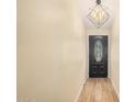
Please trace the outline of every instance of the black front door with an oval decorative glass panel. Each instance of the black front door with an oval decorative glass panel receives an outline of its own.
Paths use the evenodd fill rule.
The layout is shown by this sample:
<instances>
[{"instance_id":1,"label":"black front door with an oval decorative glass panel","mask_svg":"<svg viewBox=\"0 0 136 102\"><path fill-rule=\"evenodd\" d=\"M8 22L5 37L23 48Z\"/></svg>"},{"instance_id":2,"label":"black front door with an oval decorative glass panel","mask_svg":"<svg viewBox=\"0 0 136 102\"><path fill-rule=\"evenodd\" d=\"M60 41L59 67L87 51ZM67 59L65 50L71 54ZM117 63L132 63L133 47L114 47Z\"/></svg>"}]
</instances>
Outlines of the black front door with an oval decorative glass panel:
<instances>
[{"instance_id":1,"label":"black front door with an oval decorative glass panel","mask_svg":"<svg viewBox=\"0 0 136 102\"><path fill-rule=\"evenodd\" d=\"M107 77L107 35L89 36L89 77Z\"/></svg>"}]
</instances>

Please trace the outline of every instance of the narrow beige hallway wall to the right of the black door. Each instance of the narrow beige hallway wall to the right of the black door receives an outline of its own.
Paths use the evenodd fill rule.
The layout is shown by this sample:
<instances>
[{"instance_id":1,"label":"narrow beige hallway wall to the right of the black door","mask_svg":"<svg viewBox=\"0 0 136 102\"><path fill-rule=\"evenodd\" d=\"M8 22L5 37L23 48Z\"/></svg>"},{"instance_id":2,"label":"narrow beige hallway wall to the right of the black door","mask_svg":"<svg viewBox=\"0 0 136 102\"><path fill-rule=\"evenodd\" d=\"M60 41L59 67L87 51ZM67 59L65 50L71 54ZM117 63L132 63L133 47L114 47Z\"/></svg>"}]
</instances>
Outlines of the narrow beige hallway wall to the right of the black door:
<instances>
[{"instance_id":1,"label":"narrow beige hallway wall to the right of the black door","mask_svg":"<svg viewBox=\"0 0 136 102\"><path fill-rule=\"evenodd\" d=\"M111 80L120 97L120 1L114 0L114 21L111 29Z\"/></svg>"}]
</instances>

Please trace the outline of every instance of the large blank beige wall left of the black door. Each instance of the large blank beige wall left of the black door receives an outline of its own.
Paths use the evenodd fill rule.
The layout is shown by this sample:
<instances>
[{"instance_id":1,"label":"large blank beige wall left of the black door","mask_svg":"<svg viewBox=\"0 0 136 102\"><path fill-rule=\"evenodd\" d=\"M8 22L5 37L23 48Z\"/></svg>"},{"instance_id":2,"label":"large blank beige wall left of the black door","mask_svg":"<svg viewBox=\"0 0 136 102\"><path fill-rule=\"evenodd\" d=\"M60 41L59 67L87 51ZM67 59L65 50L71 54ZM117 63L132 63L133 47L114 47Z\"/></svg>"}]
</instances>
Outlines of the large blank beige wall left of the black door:
<instances>
[{"instance_id":1,"label":"large blank beige wall left of the black door","mask_svg":"<svg viewBox=\"0 0 136 102\"><path fill-rule=\"evenodd\" d=\"M86 77L76 0L18 0L18 102L73 102Z\"/></svg>"}]
</instances>

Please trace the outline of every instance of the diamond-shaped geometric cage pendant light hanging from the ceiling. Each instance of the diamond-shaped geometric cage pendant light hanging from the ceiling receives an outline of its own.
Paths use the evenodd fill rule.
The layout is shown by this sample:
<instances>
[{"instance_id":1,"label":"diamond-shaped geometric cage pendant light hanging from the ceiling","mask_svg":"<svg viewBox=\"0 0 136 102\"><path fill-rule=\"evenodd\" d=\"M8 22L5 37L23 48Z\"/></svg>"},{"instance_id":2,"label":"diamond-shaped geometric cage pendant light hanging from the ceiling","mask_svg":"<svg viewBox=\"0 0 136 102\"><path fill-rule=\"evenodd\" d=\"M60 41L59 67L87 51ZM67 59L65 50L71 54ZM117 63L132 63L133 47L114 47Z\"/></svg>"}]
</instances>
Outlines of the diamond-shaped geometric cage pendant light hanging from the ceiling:
<instances>
[{"instance_id":1,"label":"diamond-shaped geometric cage pendant light hanging from the ceiling","mask_svg":"<svg viewBox=\"0 0 136 102\"><path fill-rule=\"evenodd\" d=\"M89 12L87 18L97 27L101 27L109 20L110 15L101 4L101 0L97 0L97 5Z\"/></svg>"}]
</instances>

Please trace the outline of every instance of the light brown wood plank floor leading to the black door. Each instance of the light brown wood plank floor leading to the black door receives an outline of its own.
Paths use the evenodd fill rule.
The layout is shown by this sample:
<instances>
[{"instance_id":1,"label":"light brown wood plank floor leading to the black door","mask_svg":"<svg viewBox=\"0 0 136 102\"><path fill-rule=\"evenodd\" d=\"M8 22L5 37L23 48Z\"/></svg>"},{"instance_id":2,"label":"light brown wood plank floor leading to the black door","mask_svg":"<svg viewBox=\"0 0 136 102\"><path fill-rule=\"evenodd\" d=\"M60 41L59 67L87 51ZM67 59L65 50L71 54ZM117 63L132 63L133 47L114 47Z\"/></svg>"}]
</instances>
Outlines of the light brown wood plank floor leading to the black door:
<instances>
[{"instance_id":1,"label":"light brown wood plank floor leading to the black door","mask_svg":"<svg viewBox=\"0 0 136 102\"><path fill-rule=\"evenodd\" d=\"M112 82L107 78L88 79L78 102L118 102Z\"/></svg>"}]
</instances>

